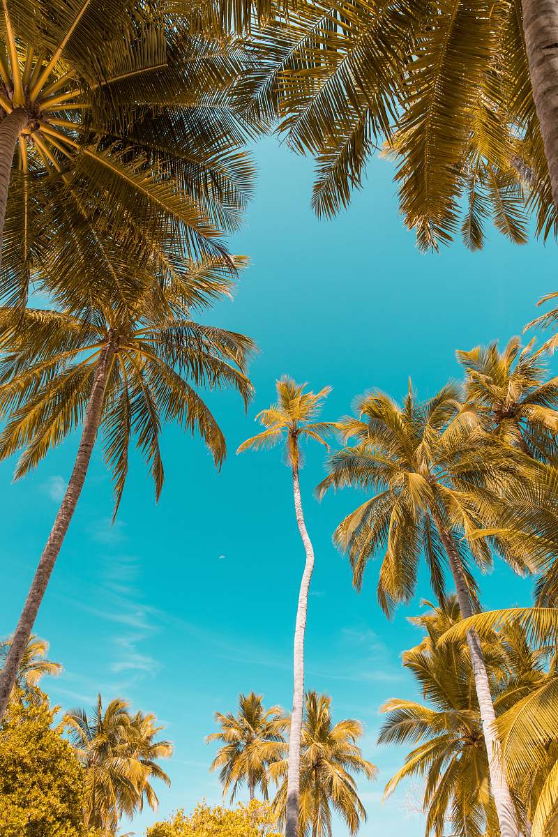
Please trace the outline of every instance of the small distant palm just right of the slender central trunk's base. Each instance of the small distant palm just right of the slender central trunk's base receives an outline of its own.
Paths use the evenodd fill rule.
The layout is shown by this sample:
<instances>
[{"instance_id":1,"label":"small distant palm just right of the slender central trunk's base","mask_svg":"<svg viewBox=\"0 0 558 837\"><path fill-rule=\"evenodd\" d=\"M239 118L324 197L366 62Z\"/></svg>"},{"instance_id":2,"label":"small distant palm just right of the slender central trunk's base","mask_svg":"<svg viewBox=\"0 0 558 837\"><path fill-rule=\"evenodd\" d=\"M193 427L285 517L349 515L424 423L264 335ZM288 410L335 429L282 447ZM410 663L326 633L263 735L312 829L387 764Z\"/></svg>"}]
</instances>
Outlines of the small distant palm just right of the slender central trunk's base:
<instances>
[{"instance_id":1,"label":"small distant palm just right of the slender central trunk's base","mask_svg":"<svg viewBox=\"0 0 558 837\"><path fill-rule=\"evenodd\" d=\"M357 742L363 730L359 721L346 718L333 723L331 699L310 691L306 695L305 720L302 727L300 756L300 837L331 837L331 809L345 820L350 834L356 834L361 822L366 822L366 810L356 789L356 774L375 778L376 768L362 756ZM279 785L274 798L274 810L279 823L288 814L289 764L274 762L269 773Z\"/></svg>"}]
</instances>

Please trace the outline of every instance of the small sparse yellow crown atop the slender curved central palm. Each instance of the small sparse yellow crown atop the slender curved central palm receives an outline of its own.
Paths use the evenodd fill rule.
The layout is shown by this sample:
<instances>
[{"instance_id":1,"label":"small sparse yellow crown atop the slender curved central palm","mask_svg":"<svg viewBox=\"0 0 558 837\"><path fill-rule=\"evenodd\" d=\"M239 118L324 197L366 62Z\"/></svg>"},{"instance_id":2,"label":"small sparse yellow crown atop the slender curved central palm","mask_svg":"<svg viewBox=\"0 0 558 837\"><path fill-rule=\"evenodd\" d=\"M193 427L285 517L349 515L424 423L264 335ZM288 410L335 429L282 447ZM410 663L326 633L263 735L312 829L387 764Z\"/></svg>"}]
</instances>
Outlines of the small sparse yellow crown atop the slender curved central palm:
<instances>
[{"instance_id":1,"label":"small sparse yellow crown atop the slender curved central palm","mask_svg":"<svg viewBox=\"0 0 558 837\"><path fill-rule=\"evenodd\" d=\"M285 439L289 463L298 469L300 440L314 439L315 442L327 447L323 436L329 433L335 425L331 422L317 422L314 419L320 414L322 402L331 392L331 388L324 387L319 393L305 392L305 383L295 383L292 378L286 376L282 377L275 386L277 402L256 416L256 420L266 429L263 433L246 439L238 448L237 453L250 448L254 450L271 448Z\"/></svg>"}]
</instances>

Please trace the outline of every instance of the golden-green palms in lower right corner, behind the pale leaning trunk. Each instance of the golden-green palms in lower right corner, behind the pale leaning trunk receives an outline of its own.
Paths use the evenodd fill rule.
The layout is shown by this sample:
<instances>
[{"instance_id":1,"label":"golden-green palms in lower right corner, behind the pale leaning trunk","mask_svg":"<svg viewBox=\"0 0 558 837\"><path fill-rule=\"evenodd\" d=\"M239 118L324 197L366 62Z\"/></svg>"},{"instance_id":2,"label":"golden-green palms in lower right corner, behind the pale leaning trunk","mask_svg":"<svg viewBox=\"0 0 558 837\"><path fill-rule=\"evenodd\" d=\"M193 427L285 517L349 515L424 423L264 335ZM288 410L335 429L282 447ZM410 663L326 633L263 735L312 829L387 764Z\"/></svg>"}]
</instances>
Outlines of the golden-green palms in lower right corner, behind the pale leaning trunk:
<instances>
[{"instance_id":1,"label":"golden-green palms in lower right corner, behind the pale leaning trunk","mask_svg":"<svg viewBox=\"0 0 558 837\"><path fill-rule=\"evenodd\" d=\"M474 671L464 644L467 630L450 596L412 621L424 630L416 648L403 654L427 701L393 699L379 737L383 744L414 745L404 766L387 783L389 796L402 779L424 782L426 834L499 834L490 793L489 762ZM556 621L536 622L537 608L512 608L473 617L489 675L502 759L513 790L521 834L545 837L556 826ZM540 617L540 614L539 614ZM480 620L480 621L479 621Z\"/></svg>"}]
</instances>

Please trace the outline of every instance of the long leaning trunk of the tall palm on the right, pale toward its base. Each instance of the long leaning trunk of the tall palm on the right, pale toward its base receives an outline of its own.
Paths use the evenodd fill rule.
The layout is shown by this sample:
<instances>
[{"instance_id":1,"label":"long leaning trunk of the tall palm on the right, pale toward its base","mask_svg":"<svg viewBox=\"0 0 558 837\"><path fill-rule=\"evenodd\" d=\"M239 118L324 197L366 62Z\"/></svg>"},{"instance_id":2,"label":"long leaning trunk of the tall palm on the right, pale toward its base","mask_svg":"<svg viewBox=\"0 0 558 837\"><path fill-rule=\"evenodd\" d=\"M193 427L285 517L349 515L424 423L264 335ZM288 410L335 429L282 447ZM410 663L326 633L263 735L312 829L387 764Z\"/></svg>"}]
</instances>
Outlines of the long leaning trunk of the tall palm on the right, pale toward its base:
<instances>
[{"instance_id":1,"label":"long leaning trunk of the tall palm on the right, pale toward its base","mask_svg":"<svg viewBox=\"0 0 558 837\"><path fill-rule=\"evenodd\" d=\"M461 559L453 544L453 537L444 529L438 515L434 514L433 516L443 542L443 547L448 553L449 566L458 594L461 616L463 619L467 619L468 616L473 615L473 608L471 607L471 597L463 574ZM489 675L484 663L484 654L480 645L479 634L476 631L468 631L467 644L473 668L475 691L477 692L477 699L479 701L484 744L489 757L490 786L498 815L500 837L519 837L520 832L515 817L514 803L509 793L508 779L504 773L499 740L494 730L496 714L494 712L492 695L490 694Z\"/></svg>"}]
</instances>

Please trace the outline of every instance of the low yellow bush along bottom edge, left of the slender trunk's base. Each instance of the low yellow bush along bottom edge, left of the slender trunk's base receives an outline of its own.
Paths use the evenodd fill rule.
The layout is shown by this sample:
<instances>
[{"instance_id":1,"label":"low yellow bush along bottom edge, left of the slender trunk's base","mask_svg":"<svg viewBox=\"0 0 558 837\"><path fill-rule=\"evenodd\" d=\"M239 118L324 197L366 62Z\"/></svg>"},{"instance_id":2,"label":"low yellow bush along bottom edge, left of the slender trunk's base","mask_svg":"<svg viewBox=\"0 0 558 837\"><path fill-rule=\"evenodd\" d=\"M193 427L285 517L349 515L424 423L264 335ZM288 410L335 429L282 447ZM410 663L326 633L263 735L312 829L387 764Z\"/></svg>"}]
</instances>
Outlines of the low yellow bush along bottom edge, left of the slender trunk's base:
<instances>
[{"instance_id":1,"label":"low yellow bush along bottom edge, left of the slender trunk's base","mask_svg":"<svg viewBox=\"0 0 558 837\"><path fill-rule=\"evenodd\" d=\"M177 811L147 829L146 837L279 837L269 805L253 801L236 809L197 806L193 814Z\"/></svg>"}]
</instances>

